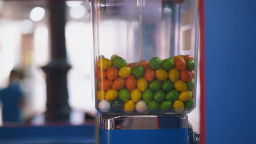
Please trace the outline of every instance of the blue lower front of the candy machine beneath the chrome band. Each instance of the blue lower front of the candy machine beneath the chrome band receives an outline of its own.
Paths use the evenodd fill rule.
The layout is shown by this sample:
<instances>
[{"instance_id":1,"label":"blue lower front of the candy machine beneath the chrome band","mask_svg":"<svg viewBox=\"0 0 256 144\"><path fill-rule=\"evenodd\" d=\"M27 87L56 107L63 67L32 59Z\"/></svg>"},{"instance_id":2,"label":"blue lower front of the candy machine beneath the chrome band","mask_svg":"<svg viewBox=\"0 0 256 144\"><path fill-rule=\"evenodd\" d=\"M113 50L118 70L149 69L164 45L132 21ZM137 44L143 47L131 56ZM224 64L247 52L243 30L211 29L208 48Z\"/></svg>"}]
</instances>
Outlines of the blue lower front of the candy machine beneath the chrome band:
<instances>
[{"instance_id":1,"label":"blue lower front of the candy machine beneath the chrome band","mask_svg":"<svg viewBox=\"0 0 256 144\"><path fill-rule=\"evenodd\" d=\"M170 143L188 144L188 128L149 130L99 130L100 144Z\"/></svg>"}]
</instances>

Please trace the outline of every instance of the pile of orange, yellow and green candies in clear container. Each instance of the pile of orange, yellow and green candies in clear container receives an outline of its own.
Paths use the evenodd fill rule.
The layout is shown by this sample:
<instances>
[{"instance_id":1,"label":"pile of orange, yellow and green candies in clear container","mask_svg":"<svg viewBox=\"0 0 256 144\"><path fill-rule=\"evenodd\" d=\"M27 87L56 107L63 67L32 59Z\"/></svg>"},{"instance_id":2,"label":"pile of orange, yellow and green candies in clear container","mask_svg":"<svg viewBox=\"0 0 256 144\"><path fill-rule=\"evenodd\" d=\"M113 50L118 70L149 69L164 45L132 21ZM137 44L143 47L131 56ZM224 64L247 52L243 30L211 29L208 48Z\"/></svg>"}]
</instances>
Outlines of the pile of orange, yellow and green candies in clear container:
<instances>
[{"instance_id":1,"label":"pile of orange, yellow and green candies in clear container","mask_svg":"<svg viewBox=\"0 0 256 144\"><path fill-rule=\"evenodd\" d=\"M190 55L127 64L113 55L96 63L96 109L106 113L189 112L196 64Z\"/></svg>"}]
</instances>

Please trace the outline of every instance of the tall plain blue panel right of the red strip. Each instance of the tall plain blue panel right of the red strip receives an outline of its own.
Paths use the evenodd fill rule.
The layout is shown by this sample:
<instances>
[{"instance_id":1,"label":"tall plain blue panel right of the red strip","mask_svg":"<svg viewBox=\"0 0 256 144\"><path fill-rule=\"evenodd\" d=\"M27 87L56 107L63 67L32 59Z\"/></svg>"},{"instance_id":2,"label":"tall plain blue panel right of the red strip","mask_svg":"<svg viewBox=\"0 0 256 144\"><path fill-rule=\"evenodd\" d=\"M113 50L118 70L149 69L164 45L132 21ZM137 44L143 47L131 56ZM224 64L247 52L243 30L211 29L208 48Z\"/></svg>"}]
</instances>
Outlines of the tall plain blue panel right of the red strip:
<instances>
[{"instance_id":1,"label":"tall plain blue panel right of the red strip","mask_svg":"<svg viewBox=\"0 0 256 144\"><path fill-rule=\"evenodd\" d=\"M205 0L207 144L255 143L256 1Z\"/></svg>"}]
</instances>

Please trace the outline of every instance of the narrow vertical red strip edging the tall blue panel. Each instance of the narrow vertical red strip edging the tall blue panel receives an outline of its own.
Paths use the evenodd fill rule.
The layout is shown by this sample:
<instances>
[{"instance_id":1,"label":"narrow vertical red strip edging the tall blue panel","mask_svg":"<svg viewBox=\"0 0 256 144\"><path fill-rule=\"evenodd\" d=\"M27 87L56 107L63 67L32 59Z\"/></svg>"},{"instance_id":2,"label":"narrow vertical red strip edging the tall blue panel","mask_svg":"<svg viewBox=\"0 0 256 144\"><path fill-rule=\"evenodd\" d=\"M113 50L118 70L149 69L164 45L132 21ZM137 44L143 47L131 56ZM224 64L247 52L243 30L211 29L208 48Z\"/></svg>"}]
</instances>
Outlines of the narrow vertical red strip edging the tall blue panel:
<instances>
[{"instance_id":1,"label":"narrow vertical red strip edging the tall blue panel","mask_svg":"<svg viewBox=\"0 0 256 144\"><path fill-rule=\"evenodd\" d=\"M200 25L200 143L206 143L205 123L205 2L199 0L199 25Z\"/></svg>"}]
</instances>

